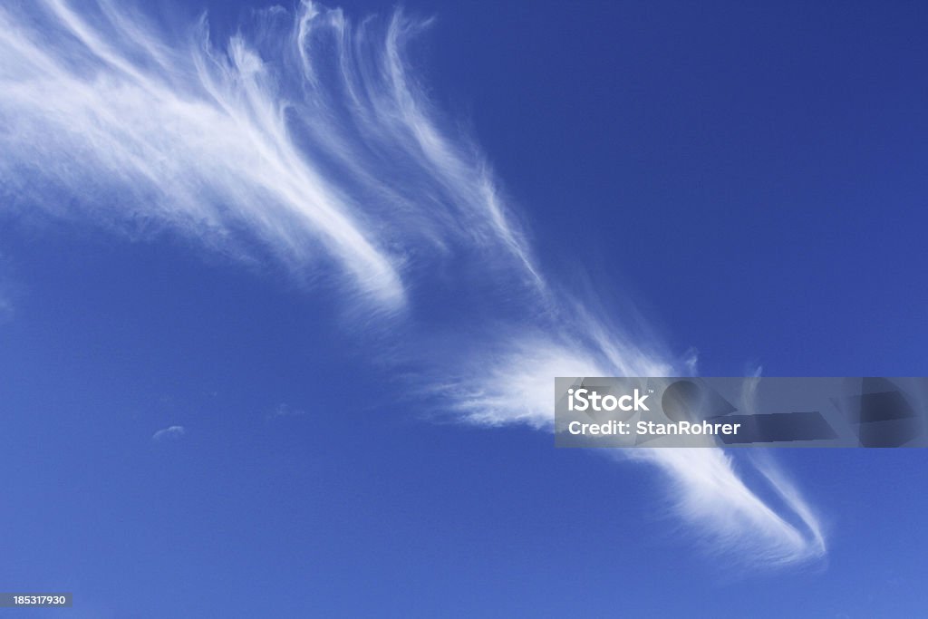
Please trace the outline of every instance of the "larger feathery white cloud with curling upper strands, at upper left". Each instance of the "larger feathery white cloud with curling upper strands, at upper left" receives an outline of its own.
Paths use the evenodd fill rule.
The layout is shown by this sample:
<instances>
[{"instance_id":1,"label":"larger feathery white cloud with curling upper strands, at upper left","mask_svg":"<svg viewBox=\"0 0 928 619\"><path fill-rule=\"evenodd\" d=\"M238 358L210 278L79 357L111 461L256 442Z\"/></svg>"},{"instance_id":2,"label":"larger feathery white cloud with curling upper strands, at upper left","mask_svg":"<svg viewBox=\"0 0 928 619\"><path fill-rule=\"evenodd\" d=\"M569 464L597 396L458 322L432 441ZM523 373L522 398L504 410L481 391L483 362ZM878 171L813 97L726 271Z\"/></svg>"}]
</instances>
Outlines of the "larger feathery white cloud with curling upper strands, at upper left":
<instances>
[{"instance_id":1,"label":"larger feathery white cloud with curling upper strands, at upper left","mask_svg":"<svg viewBox=\"0 0 928 619\"><path fill-rule=\"evenodd\" d=\"M419 244L529 265L478 151L438 131L407 77L419 26L399 14L379 34L338 10L265 11L217 46L205 19L177 39L115 3L38 4L0 9L0 174L20 207L233 252L257 239L303 276L336 264L387 309ZM52 187L69 199L34 200Z\"/></svg>"}]
</instances>

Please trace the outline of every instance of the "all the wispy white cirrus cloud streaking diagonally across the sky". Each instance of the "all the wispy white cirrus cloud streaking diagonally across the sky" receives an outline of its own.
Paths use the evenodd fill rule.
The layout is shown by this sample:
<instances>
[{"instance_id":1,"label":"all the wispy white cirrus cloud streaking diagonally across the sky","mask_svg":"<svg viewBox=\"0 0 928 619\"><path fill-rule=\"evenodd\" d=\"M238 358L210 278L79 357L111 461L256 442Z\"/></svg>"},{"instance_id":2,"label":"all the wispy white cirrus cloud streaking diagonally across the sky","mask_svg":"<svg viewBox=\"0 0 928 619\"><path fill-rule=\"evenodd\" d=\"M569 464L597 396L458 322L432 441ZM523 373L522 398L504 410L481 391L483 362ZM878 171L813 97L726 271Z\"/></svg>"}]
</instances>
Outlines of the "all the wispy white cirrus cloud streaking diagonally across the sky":
<instances>
[{"instance_id":1,"label":"all the wispy white cirrus cloud streaking diagonally across the sky","mask_svg":"<svg viewBox=\"0 0 928 619\"><path fill-rule=\"evenodd\" d=\"M0 7L4 208L172 230L337 288L368 322L411 334L404 354L470 423L550 428L558 375L677 375L655 342L544 277L480 148L409 70L406 43L427 25L400 12L353 24L303 3L224 38L205 17L169 32L108 0ZM453 302L423 327L421 290L439 280ZM509 311L489 319L450 310L500 300ZM755 463L786 514L721 451L621 458L663 471L714 548L778 565L824 553L812 509L772 466Z\"/></svg>"}]
</instances>

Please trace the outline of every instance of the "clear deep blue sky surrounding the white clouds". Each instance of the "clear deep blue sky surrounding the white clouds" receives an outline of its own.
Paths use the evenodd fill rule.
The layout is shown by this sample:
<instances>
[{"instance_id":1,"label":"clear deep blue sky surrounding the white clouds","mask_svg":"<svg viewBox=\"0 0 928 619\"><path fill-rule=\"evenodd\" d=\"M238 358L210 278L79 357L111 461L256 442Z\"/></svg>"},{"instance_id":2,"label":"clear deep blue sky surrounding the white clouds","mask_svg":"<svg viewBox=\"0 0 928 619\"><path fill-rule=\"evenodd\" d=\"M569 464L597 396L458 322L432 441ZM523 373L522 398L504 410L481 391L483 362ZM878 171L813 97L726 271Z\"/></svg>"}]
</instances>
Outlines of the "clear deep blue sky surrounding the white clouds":
<instances>
[{"instance_id":1,"label":"clear deep blue sky surrounding the white clouds","mask_svg":"<svg viewBox=\"0 0 928 619\"><path fill-rule=\"evenodd\" d=\"M705 375L925 375L928 8L777 5L406 8L549 271ZM274 269L6 219L0 251L5 590L87 617L924 613L923 451L778 453L828 560L730 574L651 471L419 419Z\"/></svg>"}]
</instances>

